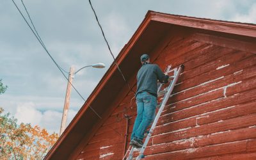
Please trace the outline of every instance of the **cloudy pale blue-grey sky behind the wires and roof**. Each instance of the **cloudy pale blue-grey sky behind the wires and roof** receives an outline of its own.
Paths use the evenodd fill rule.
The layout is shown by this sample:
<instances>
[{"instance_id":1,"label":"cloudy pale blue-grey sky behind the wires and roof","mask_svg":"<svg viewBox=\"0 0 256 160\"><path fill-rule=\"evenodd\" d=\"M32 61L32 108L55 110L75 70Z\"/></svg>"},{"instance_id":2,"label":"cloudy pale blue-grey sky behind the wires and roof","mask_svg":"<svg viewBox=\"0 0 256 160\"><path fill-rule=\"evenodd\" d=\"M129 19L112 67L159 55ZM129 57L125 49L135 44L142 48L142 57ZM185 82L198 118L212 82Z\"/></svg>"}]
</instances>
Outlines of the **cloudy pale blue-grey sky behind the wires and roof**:
<instances>
[{"instance_id":1,"label":"cloudy pale blue-grey sky behind the wires and roof","mask_svg":"<svg viewBox=\"0 0 256 160\"><path fill-rule=\"evenodd\" d=\"M20 0L15 0L24 15ZM113 58L86 0L23 0L45 46L68 72L93 63L106 68L84 68L73 84L84 99L92 93ZM130 40L148 10L256 24L255 0L92 0L100 24L115 56ZM28 17L26 17L28 19ZM0 3L0 79L8 86L0 95L0 107L18 122L59 132L67 80L36 40L12 0ZM68 76L68 74L66 74ZM73 89L67 124L83 106Z\"/></svg>"}]
</instances>

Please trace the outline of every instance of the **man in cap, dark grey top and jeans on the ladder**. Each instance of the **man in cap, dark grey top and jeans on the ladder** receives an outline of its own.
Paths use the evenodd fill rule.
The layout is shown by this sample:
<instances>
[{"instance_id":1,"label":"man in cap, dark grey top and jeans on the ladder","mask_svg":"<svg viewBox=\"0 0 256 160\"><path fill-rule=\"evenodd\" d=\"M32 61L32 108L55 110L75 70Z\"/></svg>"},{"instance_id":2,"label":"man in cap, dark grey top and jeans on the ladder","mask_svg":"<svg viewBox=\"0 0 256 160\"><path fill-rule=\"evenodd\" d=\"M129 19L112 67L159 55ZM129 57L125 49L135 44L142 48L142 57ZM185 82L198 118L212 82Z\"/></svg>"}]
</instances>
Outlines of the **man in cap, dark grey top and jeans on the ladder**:
<instances>
[{"instance_id":1,"label":"man in cap, dark grey top and jeans on the ladder","mask_svg":"<svg viewBox=\"0 0 256 160\"><path fill-rule=\"evenodd\" d=\"M150 64L150 58L143 54L140 58L142 67L137 74L137 117L131 135L132 147L143 146L144 132L154 120L157 106L157 80L168 83L169 76L165 75L158 65Z\"/></svg>"}]
</instances>

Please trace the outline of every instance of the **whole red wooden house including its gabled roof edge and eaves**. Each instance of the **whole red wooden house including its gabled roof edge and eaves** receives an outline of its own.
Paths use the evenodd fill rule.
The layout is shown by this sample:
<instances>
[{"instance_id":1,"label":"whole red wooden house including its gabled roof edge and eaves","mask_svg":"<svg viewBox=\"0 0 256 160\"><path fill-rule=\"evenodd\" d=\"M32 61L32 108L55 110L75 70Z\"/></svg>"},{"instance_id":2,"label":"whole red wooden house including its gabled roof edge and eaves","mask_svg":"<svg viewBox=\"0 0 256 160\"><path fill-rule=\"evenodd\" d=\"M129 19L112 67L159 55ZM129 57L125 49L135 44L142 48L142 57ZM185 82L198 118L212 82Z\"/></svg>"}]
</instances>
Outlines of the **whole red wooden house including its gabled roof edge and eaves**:
<instances>
[{"instance_id":1,"label":"whole red wooden house including its gabled roof edge and eaves","mask_svg":"<svg viewBox=\"0 0 256 160\"><path fill-rule=\"evenodd\" d=\"M255 24L149 11L116 58L133 90L145 52L162 70L185 65L145 159L256 159ZM113 63L45 159L122 159L132 97Z\"/></svg>"}]
</instances>

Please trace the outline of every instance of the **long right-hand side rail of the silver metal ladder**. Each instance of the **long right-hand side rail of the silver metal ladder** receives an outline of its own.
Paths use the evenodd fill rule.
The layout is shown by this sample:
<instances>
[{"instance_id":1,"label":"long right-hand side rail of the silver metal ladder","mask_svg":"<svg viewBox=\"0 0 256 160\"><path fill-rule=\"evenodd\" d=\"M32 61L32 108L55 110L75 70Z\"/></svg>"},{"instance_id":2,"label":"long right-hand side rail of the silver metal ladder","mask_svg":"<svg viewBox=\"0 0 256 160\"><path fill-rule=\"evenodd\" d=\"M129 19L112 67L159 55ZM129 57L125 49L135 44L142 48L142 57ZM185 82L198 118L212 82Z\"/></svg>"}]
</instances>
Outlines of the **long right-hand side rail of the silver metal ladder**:
<instances>
[{"instance_id":1,"label":"long right-hand side rail of the silver metal ladder","mask_svg":"<svg viewBox=\"0 0 256 160\"><path fill-rule=\"evenodd\" d=\"M169 97L170 97L170 94L171 94L172 91L173 91L173 88L174 88L174 86L175 86L175 84L176 84L176 82L177 82L177 80L178 80L178 77L179 77L179 75L180 75L180 73L181 73L182 68L184 68L184 65L180 65L178 71L175 73L175 76L174 76L174 79L173 79L173 81L172 81L172 84L171 84L170 88L168 89L168 92L164 95L164 99L163 99L163 102L162 102L162 104L161 104L161 107L159 108L159 111L157 112L156 118L155 118L155 120L154 120L152 126L150 127L150 131L149 131L149 133L148 133L148 135L147 135L147 138L146 138L145 142L143 143L143 146L142 146L142 148L141 148L141 150L140 150L140 154L139 154L139 156L136 158L136 160L140 160L140 159L142 158L143 153L144 153L144 151L145 151L145 148L147 147L148 141L150 140L150 137L151 137L152 133L154 132L154 129L155 129L156 124L157 124L157 122L158 122L158 120L159 120L159 117L160 117L160 115L161 115L161 113L162 113L162 111L163 111L163 109L164 109L164 106L165 106L167 100L168 100Z\"/></svg>"}]
</instances>

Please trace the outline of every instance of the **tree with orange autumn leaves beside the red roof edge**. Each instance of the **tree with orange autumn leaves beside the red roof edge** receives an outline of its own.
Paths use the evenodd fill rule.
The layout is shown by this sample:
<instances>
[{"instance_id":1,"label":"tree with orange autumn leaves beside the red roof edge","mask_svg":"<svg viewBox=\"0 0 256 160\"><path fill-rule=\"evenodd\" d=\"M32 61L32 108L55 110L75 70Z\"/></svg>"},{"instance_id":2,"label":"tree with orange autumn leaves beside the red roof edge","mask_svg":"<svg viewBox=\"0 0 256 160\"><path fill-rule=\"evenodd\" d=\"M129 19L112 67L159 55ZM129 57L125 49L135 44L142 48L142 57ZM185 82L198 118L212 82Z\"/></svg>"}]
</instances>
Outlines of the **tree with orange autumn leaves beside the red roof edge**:
<instances>
[{"instance_id":1,"label":"tree with orange autumn leaves beside the red roof edge","mask_svg":"<svg viewBox=\"0 0 256 160\"><path fill-rule=\"evenodd\" d=\"M17 125L17 119L3 111L0 108L0 159L43 159L58 134L49 134L37 125Z\"/></svg>"}]
</instances>

